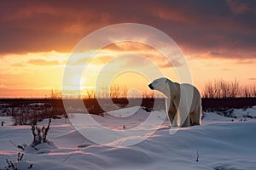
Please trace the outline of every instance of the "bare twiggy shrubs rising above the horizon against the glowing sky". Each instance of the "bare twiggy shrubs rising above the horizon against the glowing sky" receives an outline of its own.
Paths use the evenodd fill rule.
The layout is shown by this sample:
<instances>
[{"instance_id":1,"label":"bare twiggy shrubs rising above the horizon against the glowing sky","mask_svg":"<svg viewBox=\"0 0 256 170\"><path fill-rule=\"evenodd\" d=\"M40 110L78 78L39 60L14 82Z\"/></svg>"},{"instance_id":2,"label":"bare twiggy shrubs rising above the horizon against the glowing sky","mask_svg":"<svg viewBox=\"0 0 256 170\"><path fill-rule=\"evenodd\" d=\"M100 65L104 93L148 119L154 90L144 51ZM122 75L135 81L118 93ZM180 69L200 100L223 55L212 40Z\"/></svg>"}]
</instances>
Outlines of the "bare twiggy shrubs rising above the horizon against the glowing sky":
<instances>
[{"instance_id":1,"label":"bare twiggy shrubs rising above the horizon against the glowing sky","mask_svg":"<svg viewBox=\"0 0 256 170\"><path fill-rule=\"evenodd\" d=\"M118 84L113 84L110 88L85 89L81 96L62 96L61 91L52 90L50 99L123 99L123 98L162 98L160 93L150 90L141 90L139 93L131 93L128 96L128 88ZM209 81L201 91L202 98L205 99L234 99L234 98L256 98L256 85L241 86L235 79L233 82L224 79Z\"/></svg>"}]
</instances>

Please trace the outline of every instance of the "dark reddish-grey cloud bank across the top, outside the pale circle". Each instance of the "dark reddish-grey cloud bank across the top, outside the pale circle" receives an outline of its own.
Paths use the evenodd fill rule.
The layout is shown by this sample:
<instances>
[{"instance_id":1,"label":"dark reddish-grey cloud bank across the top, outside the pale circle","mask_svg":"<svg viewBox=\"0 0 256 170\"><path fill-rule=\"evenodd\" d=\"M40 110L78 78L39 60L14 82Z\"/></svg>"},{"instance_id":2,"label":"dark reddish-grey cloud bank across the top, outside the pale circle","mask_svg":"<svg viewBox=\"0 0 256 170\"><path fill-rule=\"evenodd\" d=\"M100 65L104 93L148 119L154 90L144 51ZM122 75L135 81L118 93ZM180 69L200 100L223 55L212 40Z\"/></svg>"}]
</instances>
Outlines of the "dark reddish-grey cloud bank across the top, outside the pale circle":
<instances>
[{"instance_id":1,"label":"dark reddish-grey cloud bank across the top, outside the pale circle","mask_svg":"<svg viewBox=\"0 0 256 170\"><path fill-rule=\"evenodd\" d=\"M230 57L253 58L255 8L249 0L3 1L0 53L70 52L102 26L137 22L166 32L185 51L236 49L241 54Z\"/></svg>"}]
</instances>

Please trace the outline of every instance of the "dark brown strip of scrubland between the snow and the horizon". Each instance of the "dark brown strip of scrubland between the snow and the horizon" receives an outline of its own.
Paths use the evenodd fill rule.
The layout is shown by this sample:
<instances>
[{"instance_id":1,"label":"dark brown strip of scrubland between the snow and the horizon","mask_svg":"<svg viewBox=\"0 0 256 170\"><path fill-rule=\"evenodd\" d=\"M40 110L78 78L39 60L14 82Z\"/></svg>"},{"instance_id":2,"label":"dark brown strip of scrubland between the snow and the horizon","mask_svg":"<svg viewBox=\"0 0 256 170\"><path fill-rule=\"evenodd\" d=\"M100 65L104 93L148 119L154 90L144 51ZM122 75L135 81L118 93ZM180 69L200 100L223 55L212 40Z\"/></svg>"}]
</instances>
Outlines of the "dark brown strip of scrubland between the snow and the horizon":
<instances>
[{"instance_id":1,"label":"dark brown strip of scrubland between the snow and the horizon","mask_svg":"<svg viewBox=\"0 0 256 170\"><path fill-rule=\"evenodd\" d=\"M123 107L143 106L147 111L164 110L165 99L83 99L84 106L80 105L81 99L0 99L0 116L15 116L20 121L27 119L42 120L44 118L66 115L68 113L89 112L90 114L101 115L106 111L113 111ZM218 108L246 108L256 105L256 98L226 98L206 99L202 98L202 109ZM84 111L86 108L87 111ZM19 123L21 124L21 123Z\"/></svg>"}]
</instances>

